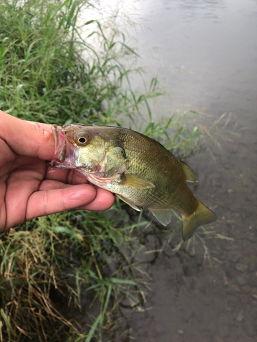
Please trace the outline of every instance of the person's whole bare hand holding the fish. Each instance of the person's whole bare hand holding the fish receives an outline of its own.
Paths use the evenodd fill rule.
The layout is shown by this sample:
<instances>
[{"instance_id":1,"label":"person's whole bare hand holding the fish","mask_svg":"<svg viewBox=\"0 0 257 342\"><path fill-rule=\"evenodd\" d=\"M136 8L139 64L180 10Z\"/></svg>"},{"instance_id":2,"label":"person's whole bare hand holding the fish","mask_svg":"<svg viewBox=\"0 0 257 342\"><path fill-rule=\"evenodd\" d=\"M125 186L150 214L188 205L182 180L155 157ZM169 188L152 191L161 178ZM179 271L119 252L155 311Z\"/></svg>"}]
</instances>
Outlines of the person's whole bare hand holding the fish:
<instances>
[{"instance_id":1,"label":"person's whole bare hand holding the fish","mask_svg":"<svg viewBox=\"0 0 257 342\"><path fill-rule=\"evenodd\" d=\"M38 216L70 209L106 210L114 194L75 170L51 168L51 124L0 111L0 232Z\"/></svg>"}]
</instances>

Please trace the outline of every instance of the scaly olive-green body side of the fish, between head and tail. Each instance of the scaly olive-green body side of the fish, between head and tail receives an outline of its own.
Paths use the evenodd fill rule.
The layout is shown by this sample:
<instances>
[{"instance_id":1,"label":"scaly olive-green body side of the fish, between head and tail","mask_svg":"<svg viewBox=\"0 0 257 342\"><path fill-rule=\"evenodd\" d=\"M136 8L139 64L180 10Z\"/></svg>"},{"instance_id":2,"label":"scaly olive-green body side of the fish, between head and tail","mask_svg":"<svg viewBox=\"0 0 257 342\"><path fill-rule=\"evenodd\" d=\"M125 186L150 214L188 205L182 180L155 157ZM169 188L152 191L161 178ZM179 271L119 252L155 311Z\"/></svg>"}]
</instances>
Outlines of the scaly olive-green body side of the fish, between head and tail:
<instances>
[{"instance_id":1,"label":"scaly olive-green body side of the fish, between head and tail","mask_svg":"<svg viewBox=\"0 0 257 342\"><path fill-rule=\"evenodd\" d=\"M125 198L134 198L134 203L140 207L183 208L184 213L195 211L198 202L186 185L186 177L177 158L160 143L134 131L120 129L119 137L116 138L120 140L127 157L127 170L124 173L138 174L156 187L138 191L135 187L110 183L106 189Z\"/></svg>"}]
</instances>

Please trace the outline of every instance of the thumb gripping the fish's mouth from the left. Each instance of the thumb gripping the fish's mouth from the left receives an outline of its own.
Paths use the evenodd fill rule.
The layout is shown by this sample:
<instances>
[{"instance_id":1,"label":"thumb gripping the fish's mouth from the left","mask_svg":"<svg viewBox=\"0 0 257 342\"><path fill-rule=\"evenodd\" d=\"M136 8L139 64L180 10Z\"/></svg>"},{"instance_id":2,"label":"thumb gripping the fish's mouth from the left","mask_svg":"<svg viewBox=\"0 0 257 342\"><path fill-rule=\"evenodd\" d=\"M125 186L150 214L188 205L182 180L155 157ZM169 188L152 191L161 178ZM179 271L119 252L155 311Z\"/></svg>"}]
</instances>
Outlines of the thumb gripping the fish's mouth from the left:
<instances>
[{"instance_id":1,"label":"thumb gripping the fish's mouth from the left","mask_svg":"<svg viewBox=\"0 0 257 342\"><path fill-rule=\"evenodd\" d=\"M3 111L0 111L0 122L0 137L7 142L14 153L43 160L53 159L54 138L51 124L27 122Z\"/></svg>"}]
</instances>

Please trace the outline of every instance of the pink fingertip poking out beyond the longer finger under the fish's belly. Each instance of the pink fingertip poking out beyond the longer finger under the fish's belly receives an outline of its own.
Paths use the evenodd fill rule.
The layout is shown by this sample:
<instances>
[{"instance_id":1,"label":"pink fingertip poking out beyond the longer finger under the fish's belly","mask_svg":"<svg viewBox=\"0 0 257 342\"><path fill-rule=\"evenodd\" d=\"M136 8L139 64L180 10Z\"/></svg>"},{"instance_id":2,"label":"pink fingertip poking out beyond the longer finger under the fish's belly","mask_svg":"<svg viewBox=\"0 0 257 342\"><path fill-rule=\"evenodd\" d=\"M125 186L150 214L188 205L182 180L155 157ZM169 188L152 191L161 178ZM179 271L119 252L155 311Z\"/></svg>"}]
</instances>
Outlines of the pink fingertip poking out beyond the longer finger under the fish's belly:
<instances>
[{"instance_id":1,"label":"pink fingertip poking out beyond the longer finger under the fish's belly","mask_svg":"<svg viewBox=\"0 0 257 342\"><path fill-rule=\"evenodd\" d=\"M95 199L90 202L88 205L83 205L82 207L78 207L77 209L86 209L86 210L107 210L112 207L115 196L112 192L108 192L105 189L101 189L101 187L96 187L97 196Z\"/></svg>"}]
</instances>

